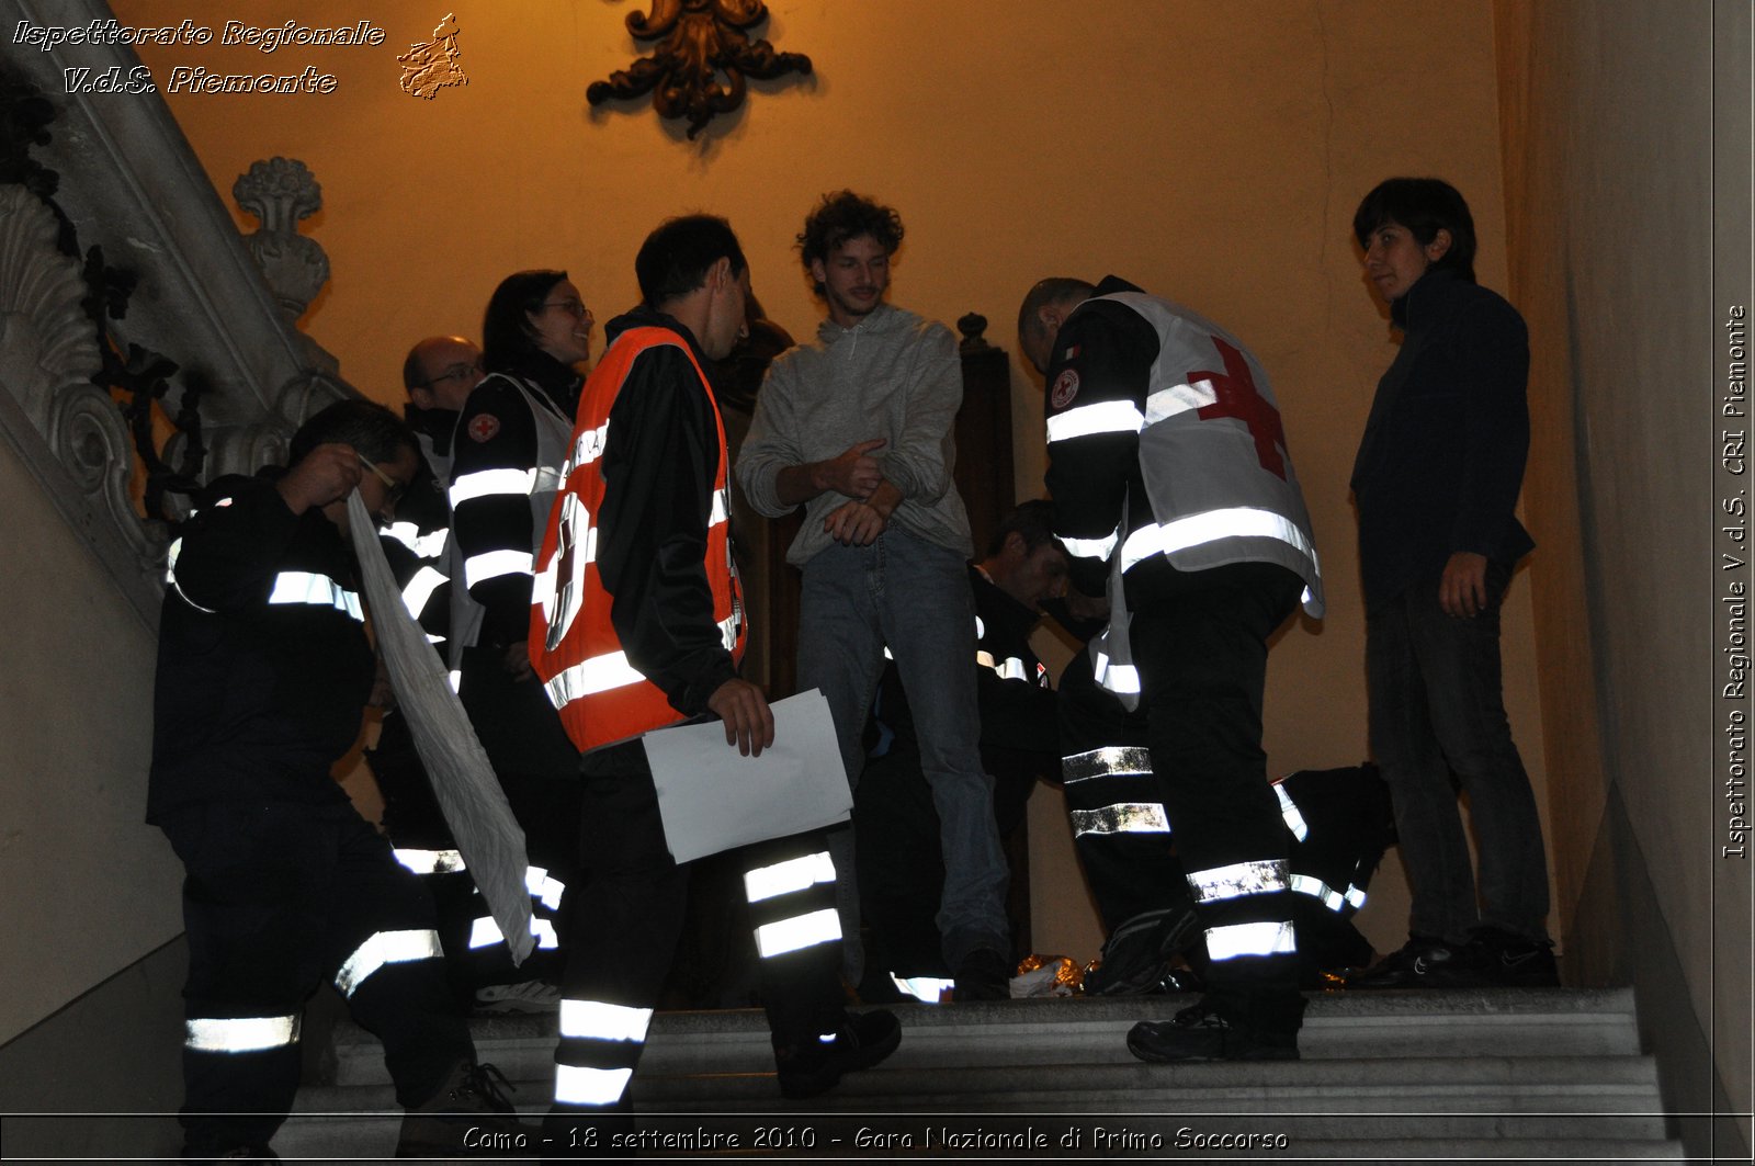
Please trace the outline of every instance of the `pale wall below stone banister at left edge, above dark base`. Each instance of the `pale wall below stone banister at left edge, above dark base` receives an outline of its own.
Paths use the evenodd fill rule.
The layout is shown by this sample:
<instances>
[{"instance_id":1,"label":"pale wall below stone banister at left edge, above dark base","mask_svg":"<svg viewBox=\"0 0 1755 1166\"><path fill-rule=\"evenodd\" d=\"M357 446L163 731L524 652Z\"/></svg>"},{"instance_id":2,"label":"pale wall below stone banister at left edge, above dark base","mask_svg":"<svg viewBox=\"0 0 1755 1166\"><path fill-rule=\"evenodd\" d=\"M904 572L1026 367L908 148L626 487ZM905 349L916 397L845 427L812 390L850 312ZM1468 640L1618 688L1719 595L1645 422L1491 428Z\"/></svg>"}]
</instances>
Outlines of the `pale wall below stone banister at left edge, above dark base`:
<instances>
[{"instance_id":1,"label":"pale wall below stone banister at left edge, above dark base","mask_svg":"<svg viewBox=\"0 0 1755 1166\"><path fill-rule=\"evenodd\" d=\"M181 867L142 822L154 639L5 439L0 499L4 1043L165 945L183 913Z\"/></svg>"}]
</instances>

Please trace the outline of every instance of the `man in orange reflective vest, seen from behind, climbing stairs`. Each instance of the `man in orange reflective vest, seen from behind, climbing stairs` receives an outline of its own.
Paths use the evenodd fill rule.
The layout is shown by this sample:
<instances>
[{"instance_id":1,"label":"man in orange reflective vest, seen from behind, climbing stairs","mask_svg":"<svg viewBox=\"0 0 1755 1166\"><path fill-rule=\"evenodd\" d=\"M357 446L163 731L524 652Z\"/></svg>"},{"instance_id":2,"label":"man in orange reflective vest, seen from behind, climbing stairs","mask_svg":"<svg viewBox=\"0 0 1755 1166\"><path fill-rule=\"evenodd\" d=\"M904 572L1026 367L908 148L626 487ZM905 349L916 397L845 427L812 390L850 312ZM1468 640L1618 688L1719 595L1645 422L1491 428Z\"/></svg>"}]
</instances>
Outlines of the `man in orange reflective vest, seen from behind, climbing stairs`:
<instances>
[{"instance_id":1,"label":"man in orange reflective vest, seen from behind, climbing stairs","mask_svg":"<svg viewBox=\"0 0 1755 1166\"><path fill-rule=\"evenodd\" d=\"M725 427L704 372L744 334L749 270L725 220L704 214L663 223L634 267L642 302L609 323L579 399L532 597L530 660L584 753L590 871L569 920L579 943L562 982L549 1154L612 1148L683 925L688 871L665 848L639 736L711 715L728 748L774 743L767 699L737 676ZM886 1057L900 1026L842 1008L821 834L746 853L779 1089L809 1098Z\"/></svg>"}]
</instances>

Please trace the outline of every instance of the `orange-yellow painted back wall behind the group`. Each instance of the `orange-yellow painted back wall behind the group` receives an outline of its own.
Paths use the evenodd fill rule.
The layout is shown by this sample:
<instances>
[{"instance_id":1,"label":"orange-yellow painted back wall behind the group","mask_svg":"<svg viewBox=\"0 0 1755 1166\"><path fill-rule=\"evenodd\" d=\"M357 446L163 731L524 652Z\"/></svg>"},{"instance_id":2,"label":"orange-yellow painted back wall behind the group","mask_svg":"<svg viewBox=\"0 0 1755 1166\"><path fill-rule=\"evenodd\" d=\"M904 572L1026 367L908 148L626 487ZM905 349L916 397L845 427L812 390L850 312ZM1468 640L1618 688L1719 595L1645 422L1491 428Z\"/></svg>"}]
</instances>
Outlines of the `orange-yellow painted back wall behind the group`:
<instances>
[{"instance_id":1,"label":"orange-yellow painted back wall behind the group","mask_svg":"<svg viewBox=\"0 0 1755 1166\"><path fill-rule=\"evenodd\" d=\"M167 11L114 7L130 23ZM1346 478L1393 349L1348 223L1378 179L1441 174L1474 205L1483 283L1506 286L1486 0L770 0L763 35L807 53L814 76L753 84L749 104L697 142L646 102L584 102L590 81L639 51L623 19L644 4L363 7L388 33L383 47L144 53L161 84L174 65L335 74L330 95L167 100L221 190L270 155L316 172L325 209L305 230L333 279L304 327L363 392L395 400L407 344L474 334L493 284L516 269L569 269L607 318L635 299L644 234L683 211L732 220L758 295L795 335L818 313L792 241L811 202L842 186L906 220L895 302L946 321L979 311L1006 348L1034 279L1113 270L1223 321L1267 365L1330 595L1327 622L1293 625L1274 651L1271 766L1365 755ZM446 7L469 86L409 97L395 51L428 39ZM186 11L218 30L237 5ZM362 11L249 7L263 25L353 23ZM1016 362L1013 390L1028 495L1042 471L1041 392ZM1532 571L1541 562L1537 551ZM1541 785L1530 643L1520 576L1506 695ZM1402 938L1397 882L1386 871L1367 908L1379 946ZM1088 957L1090 934L1083 918L1041 920L1037 946Z\"/></svg>"}]
</instances>

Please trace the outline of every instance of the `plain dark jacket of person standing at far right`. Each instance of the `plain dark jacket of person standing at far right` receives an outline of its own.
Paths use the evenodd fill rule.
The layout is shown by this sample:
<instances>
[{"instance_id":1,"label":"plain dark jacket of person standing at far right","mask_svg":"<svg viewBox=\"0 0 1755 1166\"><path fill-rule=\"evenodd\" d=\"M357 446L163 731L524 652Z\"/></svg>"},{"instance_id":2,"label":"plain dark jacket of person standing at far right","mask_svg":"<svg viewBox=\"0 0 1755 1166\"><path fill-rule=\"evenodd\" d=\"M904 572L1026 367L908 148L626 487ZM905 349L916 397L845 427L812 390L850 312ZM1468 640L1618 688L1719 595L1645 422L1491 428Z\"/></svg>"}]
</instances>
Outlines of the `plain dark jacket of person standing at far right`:
<instances>
[{"instance_id":1,"label":"plain dark jacket of person standing at far right","mask_svg":"<svg viewBox=\"0 0 1755 1166\"><path fill-rule=\"evenodd\" d=\"M1402 349L1353 462L1365 609L1436 585L1455 551L1513 564L1529 457L1529 330L1504 299L1432 269L1390 306Z\"/></svg>"}]
</instances>

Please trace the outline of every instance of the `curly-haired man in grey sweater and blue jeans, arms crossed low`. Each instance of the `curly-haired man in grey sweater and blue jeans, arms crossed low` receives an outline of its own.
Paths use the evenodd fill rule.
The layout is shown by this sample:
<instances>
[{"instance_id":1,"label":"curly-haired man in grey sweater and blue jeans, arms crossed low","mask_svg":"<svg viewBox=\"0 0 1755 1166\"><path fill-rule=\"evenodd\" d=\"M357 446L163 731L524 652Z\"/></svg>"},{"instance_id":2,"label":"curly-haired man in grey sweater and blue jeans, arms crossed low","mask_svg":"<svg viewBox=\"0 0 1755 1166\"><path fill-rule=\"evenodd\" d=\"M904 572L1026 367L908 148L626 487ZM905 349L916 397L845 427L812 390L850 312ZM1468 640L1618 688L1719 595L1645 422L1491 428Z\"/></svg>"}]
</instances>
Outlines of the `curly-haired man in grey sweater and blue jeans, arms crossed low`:
<instances>
[{"instance_id":1,"label":"curly-haired man in grey sweater and blue jeans, arms crossed low","mask_svg":"<svg viewBox=\"0 0 1755 1166\"><path fill-rule=\"evenodd\" d=\"M974 546L951 481L962 363L949 328L885 304L900 242L897 212L853 191L811 211L799 251L828 320L769 369L737 481L769 518L806 507L786 551L804 572L799 687L827 697L853 783L885 650L895 657L941 822L946 968L956 999L1000 999L1011 973L1006 857L969 667ZM830 852L846 973L858 983L853 832L832 834Z\"/></svg>"}]
</instances>

